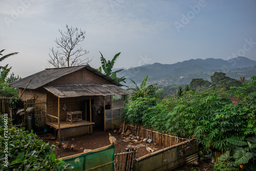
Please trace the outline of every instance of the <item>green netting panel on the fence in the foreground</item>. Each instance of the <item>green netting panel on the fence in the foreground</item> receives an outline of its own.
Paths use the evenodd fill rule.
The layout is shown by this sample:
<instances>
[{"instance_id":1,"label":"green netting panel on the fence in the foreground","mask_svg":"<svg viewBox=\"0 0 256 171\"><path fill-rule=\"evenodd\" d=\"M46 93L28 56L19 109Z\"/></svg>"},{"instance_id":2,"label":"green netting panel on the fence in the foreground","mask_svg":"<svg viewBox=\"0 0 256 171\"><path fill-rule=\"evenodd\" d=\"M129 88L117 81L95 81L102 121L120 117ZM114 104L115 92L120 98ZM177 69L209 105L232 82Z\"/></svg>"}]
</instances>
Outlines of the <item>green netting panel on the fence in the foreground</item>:
<instances>
[{"instance_id":1,"label":"green netting panel on the fence in the foreground","mask_svg":"<svg viewBox=\"0 0 256 171\"><path fill-rule=\"evenodd\" d=\"M114 170L114 149L115 145L111 145L105 149L81 154L69 159L63 159L63 161L73 166L74 168L72 170L91 170L91 168L97 166L99 167L92 170Z\"/></svg>"}]
</instances>

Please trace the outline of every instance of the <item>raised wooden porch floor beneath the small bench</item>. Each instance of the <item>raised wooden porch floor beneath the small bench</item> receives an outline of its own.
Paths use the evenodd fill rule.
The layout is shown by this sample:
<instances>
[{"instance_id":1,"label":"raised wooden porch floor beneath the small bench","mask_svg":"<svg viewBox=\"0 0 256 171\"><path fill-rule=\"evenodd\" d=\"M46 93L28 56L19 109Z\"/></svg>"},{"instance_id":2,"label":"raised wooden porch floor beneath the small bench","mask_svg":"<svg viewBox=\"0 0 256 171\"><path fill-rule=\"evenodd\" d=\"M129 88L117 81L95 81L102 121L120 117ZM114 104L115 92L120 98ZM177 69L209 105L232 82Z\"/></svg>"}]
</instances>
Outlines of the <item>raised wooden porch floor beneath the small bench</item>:
<instances>
[{"instance_id":1,"label":"raised wooden porch floor beneath the small bench","mask_svg":"<svg viewBox=\"0 0 256 171\"><path fill-rule=\"evenodd\" d=\"M77 126L81 126L81 125L93 125L94 122L90 122L90 121L86 121L86 120L82 120L81 121L77 121L77 122L72 122L72 124L67 123L66 121L60 121L60 127L58 128L58 122L46 122L47 125L50 125L52 127L54 127L56 130L61 130L61 129L66 129L69 127L77 127Z\"/></svg>"}]
</instances>

